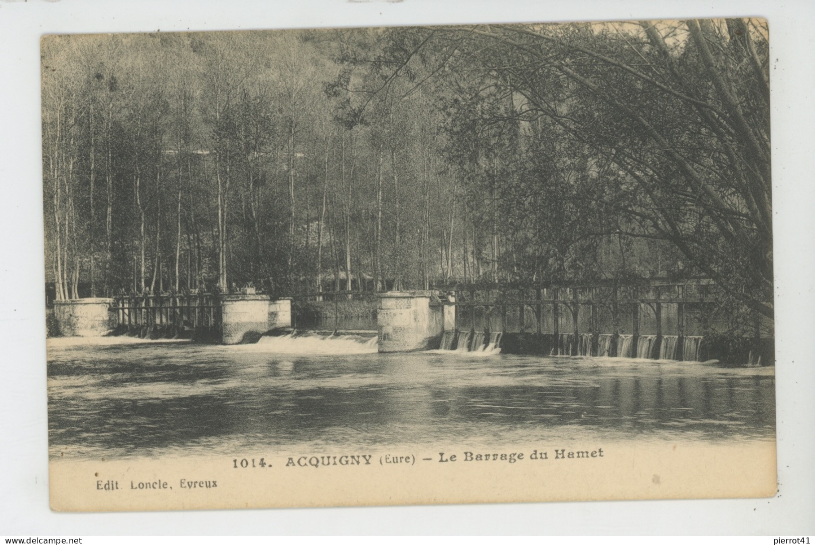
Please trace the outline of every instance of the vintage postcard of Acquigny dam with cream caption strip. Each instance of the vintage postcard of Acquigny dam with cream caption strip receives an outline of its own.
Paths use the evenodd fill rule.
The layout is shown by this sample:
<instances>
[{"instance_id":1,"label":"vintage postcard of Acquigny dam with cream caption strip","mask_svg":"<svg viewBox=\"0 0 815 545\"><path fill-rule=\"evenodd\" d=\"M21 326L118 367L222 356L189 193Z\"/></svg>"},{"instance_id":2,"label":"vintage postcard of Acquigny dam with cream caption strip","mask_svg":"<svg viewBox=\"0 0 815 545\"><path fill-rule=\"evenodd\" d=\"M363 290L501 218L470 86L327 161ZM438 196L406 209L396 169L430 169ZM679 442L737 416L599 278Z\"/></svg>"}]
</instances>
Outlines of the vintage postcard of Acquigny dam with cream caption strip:
<instances>
[{"instance_id":1,"label":"vintage postcard of Acquigny dam with cream caption strip","mask_svg":"<svg viewBox=\"0 0 815 545\"><path fill-rule=\"evenodd\" d=\"M51 508L774 495L768 56L43 37Z\"/></svg>"}]
</instances>

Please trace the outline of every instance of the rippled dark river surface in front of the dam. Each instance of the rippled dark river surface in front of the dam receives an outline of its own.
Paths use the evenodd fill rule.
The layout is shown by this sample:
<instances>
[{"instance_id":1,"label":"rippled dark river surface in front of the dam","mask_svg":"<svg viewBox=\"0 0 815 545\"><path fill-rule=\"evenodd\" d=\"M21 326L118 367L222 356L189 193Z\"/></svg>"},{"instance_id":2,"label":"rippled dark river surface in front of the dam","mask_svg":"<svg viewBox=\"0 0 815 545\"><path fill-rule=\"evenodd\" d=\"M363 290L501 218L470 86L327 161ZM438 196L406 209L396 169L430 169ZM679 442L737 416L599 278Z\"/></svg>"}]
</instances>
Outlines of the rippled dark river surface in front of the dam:
<instances>
[{"instance_id":1,"label":"rippled dark river surface in front of the dam","mask_svg":"<svg viewBox=\"0 0 815 545\"><path fill-rule=\"evenodd\" d=\"M51 456L773 438L773 368L49 340Z\"/></svg>"}]
</instances>

